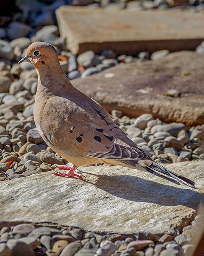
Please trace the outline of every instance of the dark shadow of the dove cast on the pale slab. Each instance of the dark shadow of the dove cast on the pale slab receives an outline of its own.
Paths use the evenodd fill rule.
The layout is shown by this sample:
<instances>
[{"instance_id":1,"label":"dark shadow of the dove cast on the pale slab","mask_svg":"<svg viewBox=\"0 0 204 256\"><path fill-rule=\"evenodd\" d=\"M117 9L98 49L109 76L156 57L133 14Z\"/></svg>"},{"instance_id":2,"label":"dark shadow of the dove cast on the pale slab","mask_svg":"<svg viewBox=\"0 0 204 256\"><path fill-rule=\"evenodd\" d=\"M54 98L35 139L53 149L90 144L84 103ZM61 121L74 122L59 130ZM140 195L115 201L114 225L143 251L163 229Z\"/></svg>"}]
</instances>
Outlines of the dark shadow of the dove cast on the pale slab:
<instances>
[{"instance_id":1,"label":"dark shadow of the dove cast on the pale slab","mask_svg":"<svg viewBox=\"0 0 204 256\"><path fill-rule=\"evenodd\" d=\"M140 177L130 175L98 175L89 172L83 174L95 175L98 180L95 183L90 181L97 188L107 193L120 197L129 201L146 202L165 206L184 205L189 208L197 209L197 205L202 200L202 195L196 190L181 188L160 184L151 180L142 179ZM164 182L168 182L165 181ZM169 182L168 182L169 183ZM169 183L170 184L170 183Z\"/></svg>"}]
</instances>

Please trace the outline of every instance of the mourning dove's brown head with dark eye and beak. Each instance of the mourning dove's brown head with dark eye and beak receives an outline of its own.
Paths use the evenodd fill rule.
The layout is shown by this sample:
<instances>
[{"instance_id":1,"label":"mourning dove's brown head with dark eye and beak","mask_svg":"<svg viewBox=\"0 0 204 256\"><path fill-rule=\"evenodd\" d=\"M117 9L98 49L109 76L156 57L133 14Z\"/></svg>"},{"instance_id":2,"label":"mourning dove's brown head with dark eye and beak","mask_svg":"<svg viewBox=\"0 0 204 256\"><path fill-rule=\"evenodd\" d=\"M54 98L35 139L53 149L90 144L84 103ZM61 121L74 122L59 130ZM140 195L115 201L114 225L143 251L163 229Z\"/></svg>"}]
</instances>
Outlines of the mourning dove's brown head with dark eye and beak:
<instances>
[{"instance_id":1,"label":"mourning dove's brown head with dark eye and beak","mask_svg":"<svg viewBox=\"0 0 204 256\"><path fill-rule=\"evenodd\" d=\"M38 68L40 65L55 63L56 60L58 61L58 54L52 45L44 42L35 42L29 46L26 56L18 64L27 61L32 63L35 68Z\"/></svg>"}]
</instances>

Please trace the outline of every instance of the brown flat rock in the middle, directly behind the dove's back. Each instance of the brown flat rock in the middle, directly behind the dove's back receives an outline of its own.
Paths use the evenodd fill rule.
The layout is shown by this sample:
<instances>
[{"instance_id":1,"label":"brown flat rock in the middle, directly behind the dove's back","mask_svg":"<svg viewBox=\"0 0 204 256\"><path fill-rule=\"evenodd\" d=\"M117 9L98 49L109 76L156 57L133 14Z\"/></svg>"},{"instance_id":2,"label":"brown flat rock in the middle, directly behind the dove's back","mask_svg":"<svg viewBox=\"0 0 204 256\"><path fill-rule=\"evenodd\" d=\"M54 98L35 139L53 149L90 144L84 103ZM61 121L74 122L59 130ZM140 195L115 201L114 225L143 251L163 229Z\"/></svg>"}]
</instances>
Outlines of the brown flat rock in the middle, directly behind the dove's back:
<instances>
[{"instance_id":1,"label":"brown flat rock in the middle, directly behind the dove's back","mask_svg":"<svg viewBox=\"0 0 204 256\"><path fill-rule=\"evenodd\" d=\"M72 84L109 112L129 117L151 113L164 122L204 123L204 54L174 52L162 59L123 64ZM179 97L166 96L170 89Z\"/></svg>"}]
</instances>

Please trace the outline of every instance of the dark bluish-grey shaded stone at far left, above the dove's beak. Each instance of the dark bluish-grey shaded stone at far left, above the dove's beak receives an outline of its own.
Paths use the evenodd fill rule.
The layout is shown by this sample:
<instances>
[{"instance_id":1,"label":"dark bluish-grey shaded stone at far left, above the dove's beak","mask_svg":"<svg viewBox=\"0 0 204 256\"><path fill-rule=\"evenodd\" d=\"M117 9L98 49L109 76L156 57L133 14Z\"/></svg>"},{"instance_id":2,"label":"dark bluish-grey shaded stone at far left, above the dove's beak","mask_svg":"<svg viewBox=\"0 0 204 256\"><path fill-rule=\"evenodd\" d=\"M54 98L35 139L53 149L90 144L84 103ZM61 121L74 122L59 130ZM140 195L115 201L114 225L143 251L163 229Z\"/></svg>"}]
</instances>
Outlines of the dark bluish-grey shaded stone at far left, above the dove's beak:
<instances>
[{"instance_id":1,"label":"dark bluish-grey shaded stone at far left, above the dove's beak","mask_svg":"<svg viewBox=\"0 0 204 256\"><path fill-rule=\"evenodd\" d=\"M19 37L27 37L31 31L31 26L17 21L13 21L8 26L7 34L10 40L14 40Z\"/></svg>"}]
</instances>

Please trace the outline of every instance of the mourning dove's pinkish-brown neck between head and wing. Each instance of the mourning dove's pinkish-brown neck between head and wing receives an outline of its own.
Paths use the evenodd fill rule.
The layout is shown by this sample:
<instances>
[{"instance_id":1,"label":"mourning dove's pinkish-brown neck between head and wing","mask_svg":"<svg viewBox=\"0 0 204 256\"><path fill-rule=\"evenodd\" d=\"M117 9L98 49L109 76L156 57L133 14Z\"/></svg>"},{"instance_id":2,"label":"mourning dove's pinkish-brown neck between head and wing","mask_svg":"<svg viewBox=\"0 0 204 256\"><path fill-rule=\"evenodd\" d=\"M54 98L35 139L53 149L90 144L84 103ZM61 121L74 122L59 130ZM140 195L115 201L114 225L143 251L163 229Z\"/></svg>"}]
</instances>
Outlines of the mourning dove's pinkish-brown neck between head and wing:
<instances>
[{"instance_id":1,"label":"mourning dove's pinkish-brown neck between head and wing","mask_svg":"<svg viewBox=\"0 0 204 256\"><path fill-rule=\"evenodd\" d=\"M69 93L73 89L60 63L55 63L55 65L42 64L36 69L38 74L36 97L58 96Z\"/></svg>"}]
</instances>

